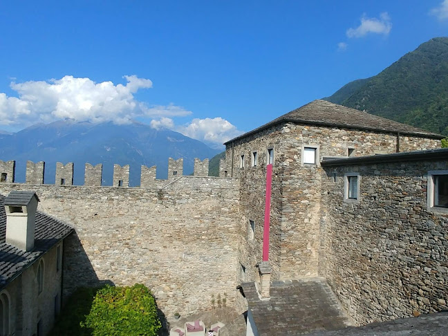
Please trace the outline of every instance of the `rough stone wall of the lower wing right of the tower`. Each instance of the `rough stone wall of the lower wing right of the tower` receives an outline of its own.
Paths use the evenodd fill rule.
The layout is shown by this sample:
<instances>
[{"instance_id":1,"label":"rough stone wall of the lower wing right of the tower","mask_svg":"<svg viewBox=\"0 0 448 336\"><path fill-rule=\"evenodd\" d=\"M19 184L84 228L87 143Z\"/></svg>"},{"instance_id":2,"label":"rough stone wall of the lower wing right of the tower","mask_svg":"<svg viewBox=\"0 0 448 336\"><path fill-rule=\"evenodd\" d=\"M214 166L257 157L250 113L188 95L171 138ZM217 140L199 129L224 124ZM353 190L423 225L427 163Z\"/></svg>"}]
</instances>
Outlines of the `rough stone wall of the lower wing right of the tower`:
<instances>
[{"instance_id":1,"label":"rough stone wall of the lower wing right of the tower","mask_svg":"<svg viewBox=\"0 0 448 336\"><path fill-rule=\"evenodd\" d=\"M448 212L427 208L433 169L448 161L326 166L325 276L360 324L448 308ZM358 203L344 201L350 172L360 174Z\"/></svg>"}]
</instances>

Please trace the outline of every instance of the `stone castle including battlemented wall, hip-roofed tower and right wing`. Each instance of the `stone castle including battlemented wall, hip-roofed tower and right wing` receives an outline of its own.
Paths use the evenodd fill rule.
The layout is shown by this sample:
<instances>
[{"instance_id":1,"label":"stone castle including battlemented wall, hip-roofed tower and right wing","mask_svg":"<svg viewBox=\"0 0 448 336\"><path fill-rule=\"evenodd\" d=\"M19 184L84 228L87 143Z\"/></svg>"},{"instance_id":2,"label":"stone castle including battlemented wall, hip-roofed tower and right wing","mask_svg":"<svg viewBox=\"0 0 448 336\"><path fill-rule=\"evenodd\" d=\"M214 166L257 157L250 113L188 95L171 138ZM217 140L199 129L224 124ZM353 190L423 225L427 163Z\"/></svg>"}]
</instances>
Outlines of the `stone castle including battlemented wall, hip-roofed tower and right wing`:
<instances>
[{"instance_id":1,"label":"stone castle including battlemented wall, hip-roofed tower and right wing","mask_svg":"<svg viewBox=\"0 0 448 336\"><path fill-rule=\"evenodd\" d=\"M205 176L206 160L183 176L183 160L170 159L167 180L142 167L140 187L128 186L129 166L114 168L113 187L91 165L85 185L71 185L68 164L56 185L42 184L40 168L19 184L10 161L0 162L0 193L32 185L41 209L73 224L64 296L77 286L140 282L173 322L175 312L208 310L220 297L249 310L253 332L268 320L264 306L300 306L281 293L304 286L332 293L339 325L367 324L448 308L441 138L316 100L227 142L217 178ZM260 304L271 284L274 299Z\"/></svg>"}]
</instances>

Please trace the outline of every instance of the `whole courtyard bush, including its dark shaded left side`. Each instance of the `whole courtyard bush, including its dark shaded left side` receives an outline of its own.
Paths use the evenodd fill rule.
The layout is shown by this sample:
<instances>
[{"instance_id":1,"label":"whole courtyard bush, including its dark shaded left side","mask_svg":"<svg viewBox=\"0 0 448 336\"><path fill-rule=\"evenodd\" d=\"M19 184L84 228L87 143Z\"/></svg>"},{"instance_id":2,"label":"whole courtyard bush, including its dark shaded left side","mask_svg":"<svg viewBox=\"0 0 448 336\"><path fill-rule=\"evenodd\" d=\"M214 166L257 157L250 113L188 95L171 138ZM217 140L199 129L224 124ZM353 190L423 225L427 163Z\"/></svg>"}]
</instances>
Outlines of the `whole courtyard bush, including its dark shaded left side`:
<instances>
[{"instance_id":1,"label":"whole courtyard bush, including its dark shaded left side","mask_svg":"<svg viewBox=\"0 0 448 336\"><path fill-rule=\"evenodd\" d=\"M156 336L156 300L147 287L81 288L68 300L50 336Z\"/></svg>"}]
</instances>

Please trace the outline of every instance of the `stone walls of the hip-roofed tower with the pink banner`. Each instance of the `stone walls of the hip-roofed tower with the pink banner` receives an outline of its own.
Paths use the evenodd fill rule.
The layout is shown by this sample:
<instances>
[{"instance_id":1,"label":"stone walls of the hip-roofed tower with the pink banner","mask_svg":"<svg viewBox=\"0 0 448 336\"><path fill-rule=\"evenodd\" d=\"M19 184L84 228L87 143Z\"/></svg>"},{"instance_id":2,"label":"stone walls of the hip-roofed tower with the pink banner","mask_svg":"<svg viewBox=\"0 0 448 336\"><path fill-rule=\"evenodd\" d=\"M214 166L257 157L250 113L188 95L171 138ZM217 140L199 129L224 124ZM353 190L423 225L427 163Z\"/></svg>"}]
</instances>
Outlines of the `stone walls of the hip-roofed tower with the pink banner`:
<instances>
[{"instance_id":1,"label":"stone walls of the hip-roofed tower with the pink banner","mask_svg":"<svg viewBox=\"0 0 448 336\"><path fill-rule=\"evenodd\" d=\"M315 165L303 163L303 147L317 149ZM400 151L434 149L440 140L417 137L400 137ZM324 157L368 156L377 153L395 153L397 135L315 127L285 123L270 127L251 136L228 143L227 169L241 179L241 209L245 221L250 219L262 225L264 209L264 181L268 149L274 149L274 175L272 185L271 263L273 279L322 275L325 272L325 223L321 220L320 161ZM258 165L252 167L252 153L256 151ZM241 168L244 156L244 168ZM233 165L232 165L233 163ZM274 216L274 213L277 213ZM247 230L242 228L244 233ZM261 237L248 243L241 252L241 262L253 265L261 256ZM254 244L252 246L251 244ZM258 260L259 261L259 260ZM251 268L250 272L255 272ZM250 278L252 279L252 278Z\"/></svg>"}]
</instances>

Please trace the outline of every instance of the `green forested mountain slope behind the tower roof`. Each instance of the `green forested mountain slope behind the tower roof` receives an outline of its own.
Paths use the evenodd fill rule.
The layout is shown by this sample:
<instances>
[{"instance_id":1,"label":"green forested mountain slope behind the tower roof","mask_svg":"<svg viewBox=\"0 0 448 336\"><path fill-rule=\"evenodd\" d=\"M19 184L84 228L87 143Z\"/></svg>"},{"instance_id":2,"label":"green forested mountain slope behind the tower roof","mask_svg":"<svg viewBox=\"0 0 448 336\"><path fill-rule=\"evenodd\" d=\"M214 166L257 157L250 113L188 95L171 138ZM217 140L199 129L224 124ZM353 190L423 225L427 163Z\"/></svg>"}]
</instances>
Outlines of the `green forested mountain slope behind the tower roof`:
<instances>
[{"instance_id":1,"label":"green forested mountain slope behind the tower roof","mask_svg":"<svg viewBox=\"0 0 448 336\"><path fill-rule=\"evenodd\" d=\"M448 37L421 44L324 100L448 136Z\"/></svg>"}]
</instances>

